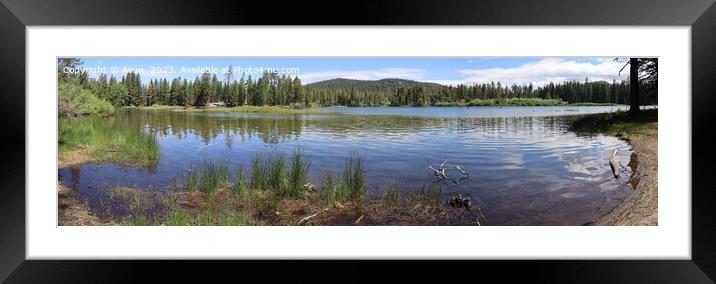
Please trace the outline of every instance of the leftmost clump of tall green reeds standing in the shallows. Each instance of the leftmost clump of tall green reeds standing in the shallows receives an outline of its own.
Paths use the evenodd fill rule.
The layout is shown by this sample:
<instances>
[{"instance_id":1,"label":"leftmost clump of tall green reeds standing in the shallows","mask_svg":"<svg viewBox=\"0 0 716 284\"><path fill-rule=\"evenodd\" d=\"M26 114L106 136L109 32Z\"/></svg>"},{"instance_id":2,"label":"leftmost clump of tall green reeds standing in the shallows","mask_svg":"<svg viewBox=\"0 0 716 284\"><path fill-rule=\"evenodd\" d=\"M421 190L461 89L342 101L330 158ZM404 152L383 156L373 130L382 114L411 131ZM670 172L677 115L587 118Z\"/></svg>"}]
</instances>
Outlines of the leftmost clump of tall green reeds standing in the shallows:
<instances>
[{"instance_id":1,"label":"leftmost clump of tall green reeds standing in the shallows","mask_svg":"<svg viewBox=\"0 0 716 284\"><path fill-rule=\"evenodd\" d=\"M221 188L229 187L229 166L226 160L204 160L201 165L194 165L184 175L187 191L201 191L208 196Z\"/></svg>"}]
</instances>

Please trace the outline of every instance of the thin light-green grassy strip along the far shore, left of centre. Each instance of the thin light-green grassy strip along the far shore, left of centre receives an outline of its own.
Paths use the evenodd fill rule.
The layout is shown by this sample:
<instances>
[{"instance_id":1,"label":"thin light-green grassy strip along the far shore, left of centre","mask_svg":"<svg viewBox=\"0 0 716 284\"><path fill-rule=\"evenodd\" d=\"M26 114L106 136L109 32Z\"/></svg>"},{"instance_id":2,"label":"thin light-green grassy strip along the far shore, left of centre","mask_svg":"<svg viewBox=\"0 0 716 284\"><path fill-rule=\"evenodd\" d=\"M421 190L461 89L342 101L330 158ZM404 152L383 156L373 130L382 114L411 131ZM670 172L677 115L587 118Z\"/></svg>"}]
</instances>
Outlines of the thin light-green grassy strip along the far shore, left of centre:
<instances>
[{"instance_id":1,"label":"thin light-green grassy strip along the far shore, left of centre","mask_svg":"<svg viewBox=\"0 0 716 284\"><path fill-rule=\"evenodd\" d=\"M333 111L317 108L296 108L290 106L238 106L238 107L182 107L153 105L148 107L131 107L143 110L171 110L186 112L240 112L257 114L331 114Z\"/></svg>"}]
</instances>

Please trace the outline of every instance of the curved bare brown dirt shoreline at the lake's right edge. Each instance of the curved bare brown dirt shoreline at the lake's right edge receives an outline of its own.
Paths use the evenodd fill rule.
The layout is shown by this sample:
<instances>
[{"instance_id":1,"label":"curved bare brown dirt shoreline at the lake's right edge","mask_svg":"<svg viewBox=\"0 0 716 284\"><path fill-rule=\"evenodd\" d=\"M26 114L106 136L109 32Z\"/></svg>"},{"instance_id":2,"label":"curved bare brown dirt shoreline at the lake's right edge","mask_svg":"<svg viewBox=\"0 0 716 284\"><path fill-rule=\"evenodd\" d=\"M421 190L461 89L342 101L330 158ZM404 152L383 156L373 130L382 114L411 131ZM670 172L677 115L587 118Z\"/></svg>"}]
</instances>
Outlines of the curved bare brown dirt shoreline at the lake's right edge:
<instances>
[{"instance_id":1,"label":"curved bare brown dirt shoreline at the lake's right edge","mask_svg":"<svg viewBox=\"0 0 716 284\"><path fill-rule=\"evenodd\" d=\"M658 225L658 128L656 123L645 126L627 138L639 159L639 185L622 205L595 220L593 226L656 226Z\"/></svg>"}]
</instances>

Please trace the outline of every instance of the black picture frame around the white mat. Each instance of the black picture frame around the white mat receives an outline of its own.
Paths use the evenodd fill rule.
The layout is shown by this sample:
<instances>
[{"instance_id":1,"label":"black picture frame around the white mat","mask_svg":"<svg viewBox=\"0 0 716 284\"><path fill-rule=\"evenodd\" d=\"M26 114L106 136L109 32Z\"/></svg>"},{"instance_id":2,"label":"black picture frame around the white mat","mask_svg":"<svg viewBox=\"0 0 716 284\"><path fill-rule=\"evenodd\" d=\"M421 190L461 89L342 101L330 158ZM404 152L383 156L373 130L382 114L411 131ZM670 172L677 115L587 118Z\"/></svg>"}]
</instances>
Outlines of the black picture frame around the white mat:
<instances>
[{"instance_id":1,"label":"black picture frame around the white mat","mask_svg":"<svg viewBox=\"0 0 716 284\"><path fill-rule=\"evenodd\" d=\"M160 279L198 278L242 271L270 277L307 276L348 281L387 273L407 279L437 272L444 280L523 279L559 282L706 282L716 279L716 222L709 140L716 113L714 0L489 0L489 1L92 1L0 0L0 114L5 157L0 160L0 280L8 282L119 282L149 273ZM345 6L345 7L344 7ZM25 31L36 25L608 25L690 26L692 76L692 258L690 260L480 261L478 263L359 261L279 263L243 261L65 261L25 258ZM61 43L58 43L61 44ZM618 43L627 44L627 43ZM670 95L670 94L664 94ZM668 189L688 190L688 189ZM405 263L404 263L405 264ZM320 275L313 272L320 268ZM204 270L206 269L206 270ZM503 269L513 272L501 272ZM261 272L262 270L280 273ZM194 272L192 274L191 272ZM213 271L213 272L212 272ZM187 273L188 272L188 273ZM417 272L417 273L416 273ZM190 275L187 275L190 274ZM415 274L415 275L413 275ZM243 274L237 277L243 277ZM452 275L452 276L451 276ZM463 275L463 276L459 276ZM336 278L338 277L338 278ZM357 277L357 278L356 278ZM461 280L463 279L463 280ZM144 278L145 281L149 280ZM476 280L479 281L479 280Z\"/></svg>"}]
</instances>

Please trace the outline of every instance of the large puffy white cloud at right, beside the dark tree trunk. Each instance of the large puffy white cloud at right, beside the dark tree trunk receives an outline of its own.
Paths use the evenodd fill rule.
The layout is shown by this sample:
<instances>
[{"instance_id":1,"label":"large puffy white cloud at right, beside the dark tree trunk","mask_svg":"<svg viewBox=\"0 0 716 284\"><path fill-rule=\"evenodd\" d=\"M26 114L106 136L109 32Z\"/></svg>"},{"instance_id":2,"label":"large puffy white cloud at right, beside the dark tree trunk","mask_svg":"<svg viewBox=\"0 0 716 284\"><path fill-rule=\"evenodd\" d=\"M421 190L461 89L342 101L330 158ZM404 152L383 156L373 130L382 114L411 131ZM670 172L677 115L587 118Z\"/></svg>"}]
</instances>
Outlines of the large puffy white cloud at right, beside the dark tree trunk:
<instances>
[{"instance_id":1,"label":"large puffy white cloud at right, beside the dark tree trunk","mask_svg":"<svg viewBox=\"0 0 716 284\"><path fill-rule=\"evenodd\" d=\"M464 76L462 80L450 80L452 85L462 82L466 84L501 82L502 84L529 84L536 86L559 83L571 80L609 81L612 79L625 80L628 74L622 72L618 75L623 62L613 59L600 58L596 63L577 62L562 58L545 58L540 61L523 64L513 68L488 69L462 69L458 74ZM438 82L438 81L436 81ZM439 83L439 82L438 82Z\"/></svg>"}]
</instances>

